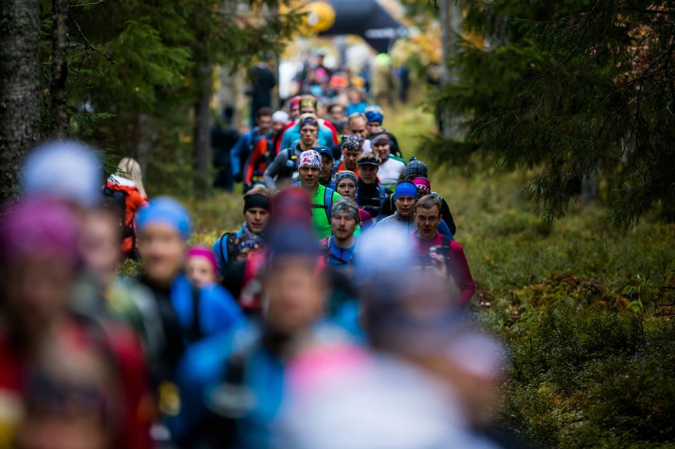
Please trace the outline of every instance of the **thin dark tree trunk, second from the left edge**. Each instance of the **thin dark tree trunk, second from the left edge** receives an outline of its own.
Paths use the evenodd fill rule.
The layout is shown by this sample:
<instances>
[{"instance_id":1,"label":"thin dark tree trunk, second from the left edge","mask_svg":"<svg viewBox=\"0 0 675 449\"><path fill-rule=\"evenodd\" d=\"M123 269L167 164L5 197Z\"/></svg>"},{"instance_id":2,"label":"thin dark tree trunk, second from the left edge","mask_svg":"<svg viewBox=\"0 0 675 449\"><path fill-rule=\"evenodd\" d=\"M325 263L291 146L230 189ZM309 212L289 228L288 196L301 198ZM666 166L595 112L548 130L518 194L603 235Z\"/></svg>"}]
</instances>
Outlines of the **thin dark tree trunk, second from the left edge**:
<instances>
[{"instance_id":1,"label":"thin dark tree trunk, second from the left edge","mask_svg":"<svg viewBox=\"0 0 675 449\"><path fill-rule=\"evenodd\" d=\"M68 134L68 0L51 0L51 135L63 138Z\"/></svg>"}]
</instances>

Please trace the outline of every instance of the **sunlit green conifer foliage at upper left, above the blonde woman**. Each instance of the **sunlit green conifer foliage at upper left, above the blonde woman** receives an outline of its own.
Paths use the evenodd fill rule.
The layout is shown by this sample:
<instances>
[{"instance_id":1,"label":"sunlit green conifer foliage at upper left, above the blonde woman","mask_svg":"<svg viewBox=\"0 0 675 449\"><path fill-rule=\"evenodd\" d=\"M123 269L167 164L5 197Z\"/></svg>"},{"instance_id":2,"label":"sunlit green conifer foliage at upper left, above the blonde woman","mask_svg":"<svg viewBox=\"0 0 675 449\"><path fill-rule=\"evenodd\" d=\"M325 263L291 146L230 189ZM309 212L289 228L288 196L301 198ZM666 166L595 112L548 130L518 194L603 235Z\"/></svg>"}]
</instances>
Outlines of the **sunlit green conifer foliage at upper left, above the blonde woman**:
<instances>
[{"instance_id":1,"label":"sunlit green conifer foliage at upper left, above the blonde woman","mask_svg":"<svg viewBox=\"0 0 675 449\"><path fill-rule=\"evenodd\" d=\"M112 148L118 156L135 156L144 165L161 161L146 171L149 184L158 186L155 191L166 181L159 170L167 165L185 175L179 183L191 182L195 177L192 112L205 77L212 76L214 65L238 70L281 51L298 20L292 13L276 13L283 3L71 1L70 134ZM41 2L41 18L42 84L48 87L48 0ZM49 129L49 89L43 92L42 121Z\"/></svg>"}]
</instances>

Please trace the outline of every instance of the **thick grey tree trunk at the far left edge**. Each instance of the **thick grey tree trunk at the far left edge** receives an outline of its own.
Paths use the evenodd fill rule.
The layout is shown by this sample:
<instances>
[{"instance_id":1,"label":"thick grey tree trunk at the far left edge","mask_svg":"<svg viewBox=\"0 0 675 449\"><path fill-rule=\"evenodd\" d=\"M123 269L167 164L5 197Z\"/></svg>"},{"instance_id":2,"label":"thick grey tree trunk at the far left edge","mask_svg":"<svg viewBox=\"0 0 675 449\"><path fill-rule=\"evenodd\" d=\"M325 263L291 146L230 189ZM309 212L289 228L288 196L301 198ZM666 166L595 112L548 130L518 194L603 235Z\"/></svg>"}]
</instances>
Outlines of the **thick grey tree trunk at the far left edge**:
<instances>
[{"instance_id":1,"label":"thick grey tree trunk at the far left edge","mask_svg":"<svg viewBox=\"0 0 675 449\"><path fill-rule=\"evenodd\" d=\"M39 1L0 7L0 201L18 191L20 164L39 138Z\"/></svg>"}]
</instances>

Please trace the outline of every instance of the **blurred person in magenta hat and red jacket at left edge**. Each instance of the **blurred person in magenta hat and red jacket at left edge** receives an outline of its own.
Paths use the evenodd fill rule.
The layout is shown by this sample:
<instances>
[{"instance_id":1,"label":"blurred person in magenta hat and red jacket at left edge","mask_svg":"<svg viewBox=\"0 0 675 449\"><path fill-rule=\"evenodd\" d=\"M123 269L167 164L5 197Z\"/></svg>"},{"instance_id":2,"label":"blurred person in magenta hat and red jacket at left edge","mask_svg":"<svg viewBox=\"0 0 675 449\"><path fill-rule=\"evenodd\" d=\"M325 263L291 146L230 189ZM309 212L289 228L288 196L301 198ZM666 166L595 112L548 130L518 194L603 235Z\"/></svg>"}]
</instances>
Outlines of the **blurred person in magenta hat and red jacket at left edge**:
<instances>
[{"instance_id":1,"label":"blurred person in magenta hat and red jacket at left edge","mask_svg":"<svg viewBox=\"0 0 675 449\"><path fill-rule=\"evenodd\" d=\"M82 262L78 253L80 230L72 208L53 200L27 198L5 217L0 229L1 317L6 324L0 332L1 402L11 404L11 398L27 393L27 373L51 350L48 345L82 345L83 350L98 351L109 358L108 374L116 378L117 417L102 424L110 426L110 447L148 448L151 411L141 407L147 390L138 339L126 327L70 310ZM119 251L118 241L113 248ZM30 405L31 400L29 410ZM11 428L7 423L2 426ZM62 436L63 442L45 440L53 445L42 446L35 441L24 444L76 447L68 443L65 434Z\"/></svg>"}]
</instances>

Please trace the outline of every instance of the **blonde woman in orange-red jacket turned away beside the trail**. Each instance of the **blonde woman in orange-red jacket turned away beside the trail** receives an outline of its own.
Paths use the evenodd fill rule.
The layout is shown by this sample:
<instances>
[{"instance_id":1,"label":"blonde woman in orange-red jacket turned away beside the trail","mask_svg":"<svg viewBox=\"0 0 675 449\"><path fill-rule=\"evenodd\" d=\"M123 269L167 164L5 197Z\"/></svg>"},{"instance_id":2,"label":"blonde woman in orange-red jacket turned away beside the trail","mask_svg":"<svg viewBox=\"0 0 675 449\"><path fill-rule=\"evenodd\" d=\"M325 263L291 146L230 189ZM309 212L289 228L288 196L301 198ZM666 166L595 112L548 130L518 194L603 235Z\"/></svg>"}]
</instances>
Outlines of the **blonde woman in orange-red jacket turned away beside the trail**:
<instances>
[{"instance_id":1,"label":"blonde woman in orange-red jacket turned away beside the trail","mask_svg":"<svg viewBox=\"0 0 675 449\"><path fill-rule=\"evenodd\" d=\"M136 258L138 247L134 214L147 201L141 165L134 158L122 158L103 186L103 203L120 215L122 252L129 258Z\"/></svg>"}]
</instances>

